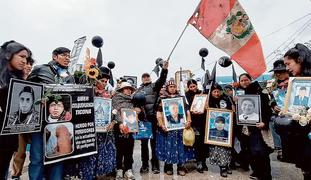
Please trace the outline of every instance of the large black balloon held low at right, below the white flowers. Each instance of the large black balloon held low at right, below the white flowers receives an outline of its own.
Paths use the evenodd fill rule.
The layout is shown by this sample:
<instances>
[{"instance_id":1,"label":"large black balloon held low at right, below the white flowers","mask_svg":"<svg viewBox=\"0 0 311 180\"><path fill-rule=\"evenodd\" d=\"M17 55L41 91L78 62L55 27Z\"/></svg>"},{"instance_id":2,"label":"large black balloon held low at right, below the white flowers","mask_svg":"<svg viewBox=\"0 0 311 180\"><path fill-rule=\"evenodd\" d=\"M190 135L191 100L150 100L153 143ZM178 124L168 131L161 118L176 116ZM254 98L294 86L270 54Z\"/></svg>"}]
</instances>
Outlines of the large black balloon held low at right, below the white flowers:
<instances>
[{"instance_id":1,"label":"large black balloon held low at right, below the white flowers","mask_svg":"<svg viewBox=\"0 0 311 180\"><path fill-rule=\"evenodd\" d=\"M276 133L286 139L292 138L299 133L298 121L294 120L292 115L280 115L273 122L273 129Z\"/></svg>"}]
</instances>

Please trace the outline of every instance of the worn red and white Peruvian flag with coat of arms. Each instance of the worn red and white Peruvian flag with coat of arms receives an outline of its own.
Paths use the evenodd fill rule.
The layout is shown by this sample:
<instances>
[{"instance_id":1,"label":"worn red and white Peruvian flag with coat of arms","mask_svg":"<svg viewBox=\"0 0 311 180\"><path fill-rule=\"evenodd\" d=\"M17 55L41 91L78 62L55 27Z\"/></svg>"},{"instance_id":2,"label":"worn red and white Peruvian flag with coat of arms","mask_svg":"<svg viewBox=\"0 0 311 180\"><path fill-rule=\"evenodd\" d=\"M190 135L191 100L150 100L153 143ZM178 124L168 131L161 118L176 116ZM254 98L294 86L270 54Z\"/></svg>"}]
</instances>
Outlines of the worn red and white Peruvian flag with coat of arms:
<instances>
[{"instance_id":1,"label":"worn red and white Peruvian flag with coat of arms","mask_svg":"<svg viewBox=\"0 0 311 180\"><path fill-rule=\"evenodd\" d=\"M239 0L202 0L188 24L225 51L252 78L266 71L259 37Z\"/></svg>"}]
</instances>

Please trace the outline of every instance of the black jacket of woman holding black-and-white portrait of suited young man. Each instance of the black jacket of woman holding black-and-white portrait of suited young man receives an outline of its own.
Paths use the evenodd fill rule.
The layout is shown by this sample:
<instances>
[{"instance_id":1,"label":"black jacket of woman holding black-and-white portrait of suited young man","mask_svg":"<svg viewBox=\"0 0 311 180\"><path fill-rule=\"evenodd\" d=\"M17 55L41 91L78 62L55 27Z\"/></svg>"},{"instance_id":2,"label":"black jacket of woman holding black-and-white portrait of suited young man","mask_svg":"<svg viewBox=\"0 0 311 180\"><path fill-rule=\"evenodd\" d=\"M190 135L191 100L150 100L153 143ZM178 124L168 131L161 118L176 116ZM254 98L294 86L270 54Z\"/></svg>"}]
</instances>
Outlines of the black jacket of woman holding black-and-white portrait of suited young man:
<instances>
[{"instance_id":1,"label":"black jacket of woman holding black-and-white portrait of suited young man","mask_svg":"<svg viewBox=\"0 0 311 180\"><path fill-rule=\"evenodd\" d=\"M245 95L259 95L260 96L260 116L261 116L261 122L265 124L263 129L267 130L269 129L269 122L272 116L272 109L269 106L269 95L262 92L262 88L260 87L259 82L252 82L250 85L248 85L246 88L243 88ZM252 130L260 130L259 128L255 126L248 126L249 131Z\"/></svg>"}]
</instances>

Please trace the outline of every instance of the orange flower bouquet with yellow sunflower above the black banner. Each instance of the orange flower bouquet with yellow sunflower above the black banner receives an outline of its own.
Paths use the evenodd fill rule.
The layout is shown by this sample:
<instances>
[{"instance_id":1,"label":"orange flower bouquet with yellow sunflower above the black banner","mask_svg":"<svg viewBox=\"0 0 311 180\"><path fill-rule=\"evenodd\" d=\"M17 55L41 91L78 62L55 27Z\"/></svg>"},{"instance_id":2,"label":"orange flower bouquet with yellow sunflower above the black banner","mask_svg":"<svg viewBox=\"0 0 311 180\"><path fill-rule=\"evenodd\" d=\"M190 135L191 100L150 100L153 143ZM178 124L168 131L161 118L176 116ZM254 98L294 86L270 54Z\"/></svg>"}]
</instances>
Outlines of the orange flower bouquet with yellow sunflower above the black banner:
<instances>
[{"instance_id":1,"label":"orange flower bouquet with yellow sunflower above the black banner","mask_svg":"<svg viewBox=\"0 0 311 180\"><path fill-rule=\"evenodd\" d=\"M94 84L95 81L98 81L98 75L102 75L102 71L99 70L98 64L96 63L95 58L90 57L90 51L86 48L86 60L84 60L84 75L82 77L86 78L86 83Z\"/></svg>"}]
</instances>

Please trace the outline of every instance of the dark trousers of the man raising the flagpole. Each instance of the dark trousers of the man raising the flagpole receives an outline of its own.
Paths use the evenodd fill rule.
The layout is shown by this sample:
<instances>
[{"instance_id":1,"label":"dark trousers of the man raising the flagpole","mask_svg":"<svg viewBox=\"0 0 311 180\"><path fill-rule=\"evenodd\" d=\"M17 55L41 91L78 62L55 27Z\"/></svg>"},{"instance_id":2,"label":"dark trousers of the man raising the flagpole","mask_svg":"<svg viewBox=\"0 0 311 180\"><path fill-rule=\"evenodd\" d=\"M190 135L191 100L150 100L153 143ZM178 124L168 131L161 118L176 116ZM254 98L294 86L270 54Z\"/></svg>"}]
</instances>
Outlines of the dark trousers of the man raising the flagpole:
<instances>
[{"instance_id":1,"label":"dark trousers of the man raising the flagpole","mask_svg":"<svg viewBox=\"0 0 311 180\"><path fill-rule=\"evenodd\" d=\"M154 136L153 139L150 139L150 146L151 146L151 164L152 165L159 165L159 161L157 160L155 156L155 143L156 143L156 128L157 128L157 120L155 115L147 115L148 122L151 122L151 128L152 128L152 134ZM140 147L141 147L141 161L142 164L148 165L149 164L149 148L148 148L148 142L147 140L141 140L140 141Z\"/></svg>"}]
</instances>

